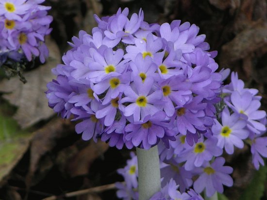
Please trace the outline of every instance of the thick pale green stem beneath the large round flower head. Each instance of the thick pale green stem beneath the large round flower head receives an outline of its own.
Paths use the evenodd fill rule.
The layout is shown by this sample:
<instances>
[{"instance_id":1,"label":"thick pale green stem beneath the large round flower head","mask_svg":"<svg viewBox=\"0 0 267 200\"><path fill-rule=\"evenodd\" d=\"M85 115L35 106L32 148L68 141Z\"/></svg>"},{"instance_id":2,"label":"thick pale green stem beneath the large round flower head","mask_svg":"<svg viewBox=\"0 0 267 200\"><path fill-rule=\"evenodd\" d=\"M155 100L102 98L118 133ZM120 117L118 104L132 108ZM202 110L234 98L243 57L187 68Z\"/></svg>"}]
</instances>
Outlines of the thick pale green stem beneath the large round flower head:
<instances>
[{"instance_id":1,"label":"thick pale green stem beneath the large round flower head","mask_svg":"<svg viewBox=\"0 0 267 200\"><path fill-rule=\"evenodd\" d=\"M139 200L149 200L160 191L160 168L158 147L149 150L136 148L138 161Z\"/></svg>"}]
</instances>

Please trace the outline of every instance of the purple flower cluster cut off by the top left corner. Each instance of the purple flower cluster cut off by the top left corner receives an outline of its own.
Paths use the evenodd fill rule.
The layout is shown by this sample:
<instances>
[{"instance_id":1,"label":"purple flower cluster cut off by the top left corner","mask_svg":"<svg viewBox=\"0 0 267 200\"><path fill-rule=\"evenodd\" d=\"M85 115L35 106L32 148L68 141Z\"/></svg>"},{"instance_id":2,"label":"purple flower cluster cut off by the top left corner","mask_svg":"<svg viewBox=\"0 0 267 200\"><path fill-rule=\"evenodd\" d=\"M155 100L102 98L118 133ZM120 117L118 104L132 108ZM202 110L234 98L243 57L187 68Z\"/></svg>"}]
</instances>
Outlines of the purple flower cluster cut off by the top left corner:
<instances>
[{"instance_id":1,"label":"purple flower cluster cut off by the top left corner","mask_svg":"<svg viewBox=\"0 0 267 200\"><path fill-rule=\"evenodd\" d=\"M7 59L19 62L26 57L39 56L45 62L49 51L45 35L51 32L52 17L47 15L49 6L39 5L44 0L0 1L0 66Z\"/></svg>"}]
</instances>

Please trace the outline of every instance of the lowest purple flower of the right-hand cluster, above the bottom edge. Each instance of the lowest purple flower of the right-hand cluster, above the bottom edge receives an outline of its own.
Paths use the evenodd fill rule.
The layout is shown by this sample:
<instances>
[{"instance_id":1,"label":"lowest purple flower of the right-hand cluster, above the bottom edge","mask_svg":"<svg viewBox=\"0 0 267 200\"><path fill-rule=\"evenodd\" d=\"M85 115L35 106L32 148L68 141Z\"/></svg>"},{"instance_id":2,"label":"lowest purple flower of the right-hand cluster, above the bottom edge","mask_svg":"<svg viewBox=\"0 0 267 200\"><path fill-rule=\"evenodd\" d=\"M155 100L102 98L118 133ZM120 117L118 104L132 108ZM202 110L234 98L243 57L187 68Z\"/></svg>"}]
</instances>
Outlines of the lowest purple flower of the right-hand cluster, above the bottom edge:
<instances>
[{"instance_id":1,"label":"lowest purple flower of the right-hand cluster, above the bottom edge","mask_svg":"<svg viewBox=\"0 0 267 200\"><path fill-rule=\"evenodd\" d=\"M199 178L194 182L194 190L200 193L205 189L207 197L211 197L216 191L222 193L223 185L232 186L233 179L229 174L233 168L223 166L224 163L223 157L216 158L212 164L204 163Z\"/></svg>"}]
</instances>

